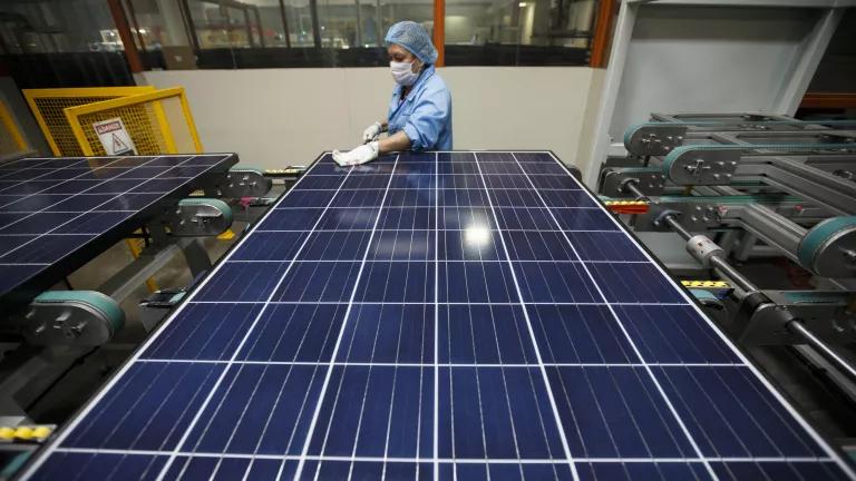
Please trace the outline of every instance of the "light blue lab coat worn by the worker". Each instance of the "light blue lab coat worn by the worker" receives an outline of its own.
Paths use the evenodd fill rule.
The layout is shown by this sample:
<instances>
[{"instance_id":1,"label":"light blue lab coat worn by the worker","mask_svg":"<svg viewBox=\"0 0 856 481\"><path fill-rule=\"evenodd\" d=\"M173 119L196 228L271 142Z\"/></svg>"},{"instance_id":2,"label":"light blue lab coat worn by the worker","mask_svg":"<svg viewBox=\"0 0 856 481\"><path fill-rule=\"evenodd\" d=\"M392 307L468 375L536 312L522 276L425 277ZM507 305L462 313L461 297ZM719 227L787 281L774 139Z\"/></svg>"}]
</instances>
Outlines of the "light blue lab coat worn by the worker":
<instances>
[{"instance_id":1,"label":"light blue lab coat worn by the worker","mask_svg":"<svg viewBox=\"0 0 856 481\"><path fill-rule=\"evenodd\" d=\"M451 150L451 95L434 66L400 102L402 89L397 85L389 101L389 134L403 130L412 150Z\"/></svg>"}]
</instances>

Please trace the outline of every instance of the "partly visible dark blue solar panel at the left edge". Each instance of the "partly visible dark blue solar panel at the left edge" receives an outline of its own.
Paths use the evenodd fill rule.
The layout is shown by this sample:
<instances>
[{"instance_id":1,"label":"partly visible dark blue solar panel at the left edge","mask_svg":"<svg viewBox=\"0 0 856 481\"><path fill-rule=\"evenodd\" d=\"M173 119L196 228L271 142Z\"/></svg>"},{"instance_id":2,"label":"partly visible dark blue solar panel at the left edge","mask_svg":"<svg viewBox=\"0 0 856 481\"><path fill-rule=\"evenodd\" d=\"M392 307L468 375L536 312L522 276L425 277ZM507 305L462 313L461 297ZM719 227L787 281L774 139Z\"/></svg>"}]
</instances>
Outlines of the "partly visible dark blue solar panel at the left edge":
<instances>
[{"instance_id":1,"label":"partly visible dark blue solar panel at the left edge","mask_svg":"<svg viewBox=\"0 0 856 481\"><path fill-rule=\"evenodd\" d=\"M201 176L236 161L232 154L218 154L25 158L3 164L0 300L26 303L98 254L93 248L84 255L84 247L121 226L138 227L145 212L150 215L165 200L198 187Z\"/></svg>"}]
</instances>

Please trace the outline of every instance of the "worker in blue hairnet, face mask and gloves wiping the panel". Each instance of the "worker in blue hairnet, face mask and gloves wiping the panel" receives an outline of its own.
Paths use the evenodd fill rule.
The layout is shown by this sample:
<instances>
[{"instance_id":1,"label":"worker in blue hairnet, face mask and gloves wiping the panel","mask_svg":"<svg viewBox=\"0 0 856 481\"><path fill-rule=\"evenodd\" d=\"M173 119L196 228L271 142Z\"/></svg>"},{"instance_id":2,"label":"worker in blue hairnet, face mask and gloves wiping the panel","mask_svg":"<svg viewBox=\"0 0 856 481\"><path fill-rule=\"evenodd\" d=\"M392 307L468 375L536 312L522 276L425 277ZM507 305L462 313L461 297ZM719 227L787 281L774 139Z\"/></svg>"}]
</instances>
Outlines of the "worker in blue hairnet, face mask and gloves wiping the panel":
<instances>
[{"instance_id":1,"label":"worker in blue hairnet, face mask and gloves wiping the panel","mask_svg":"<svg viewBox=\"0 0 856 481\"><path fill-rule=\"evenodd\" d=\"M362 132L363 145L351 151L333 151L339 165L359 165L379 155L401 150L451 150L451 96L434 69L437 49L419 23L393 24L387 37L392 78L392 100L387 120ZM383 131L389 135L380 138Z\"/></svg>"}]
</instances>

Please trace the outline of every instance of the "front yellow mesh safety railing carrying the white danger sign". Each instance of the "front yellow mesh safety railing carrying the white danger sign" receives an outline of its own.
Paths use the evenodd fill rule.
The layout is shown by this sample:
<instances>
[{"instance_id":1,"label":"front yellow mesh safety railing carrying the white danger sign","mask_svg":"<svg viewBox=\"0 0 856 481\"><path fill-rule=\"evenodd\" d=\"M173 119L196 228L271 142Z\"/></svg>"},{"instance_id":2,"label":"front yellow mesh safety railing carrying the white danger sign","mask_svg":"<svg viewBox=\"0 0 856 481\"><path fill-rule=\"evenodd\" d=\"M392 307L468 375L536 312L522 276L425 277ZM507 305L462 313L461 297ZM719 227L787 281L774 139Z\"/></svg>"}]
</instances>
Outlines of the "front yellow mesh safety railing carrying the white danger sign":
<instances>
[{"instance_id":1,"label":"front yellow mesh safety railing carrying the white danger sign","mask_svg":"<svg viewBox=\"0 0 856 481\"><path fill-rule=\"evenodd\" d=\"M105 155L93 124L120 118L138 155L202 153L184 89L173 87L64 110L80 151Z\"/></svg>"}]
</instances>

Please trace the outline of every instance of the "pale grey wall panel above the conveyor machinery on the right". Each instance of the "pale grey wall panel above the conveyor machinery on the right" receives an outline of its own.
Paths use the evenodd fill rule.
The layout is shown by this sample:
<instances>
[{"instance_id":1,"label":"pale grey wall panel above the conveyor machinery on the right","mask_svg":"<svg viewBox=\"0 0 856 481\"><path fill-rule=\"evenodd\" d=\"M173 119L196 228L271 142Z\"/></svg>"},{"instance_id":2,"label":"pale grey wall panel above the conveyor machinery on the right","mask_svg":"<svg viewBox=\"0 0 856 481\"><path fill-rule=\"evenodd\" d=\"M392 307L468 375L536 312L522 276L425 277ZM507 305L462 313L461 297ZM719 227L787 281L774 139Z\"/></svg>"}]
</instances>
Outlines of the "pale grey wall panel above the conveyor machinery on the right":
<instances>
[{"instance_id":1,"label":"pale grey wall panel above the conveyor machinery on the right","mask_svg":"<svg viewBox=\"0 0 856 481\"><path fill-rule=\"evenodd\" d=\"M610 135L621 141L652 111L772 111L819 16L817 9L642 6Z\"/></svg>"}]
</instances>

